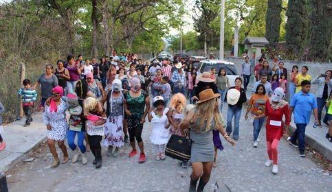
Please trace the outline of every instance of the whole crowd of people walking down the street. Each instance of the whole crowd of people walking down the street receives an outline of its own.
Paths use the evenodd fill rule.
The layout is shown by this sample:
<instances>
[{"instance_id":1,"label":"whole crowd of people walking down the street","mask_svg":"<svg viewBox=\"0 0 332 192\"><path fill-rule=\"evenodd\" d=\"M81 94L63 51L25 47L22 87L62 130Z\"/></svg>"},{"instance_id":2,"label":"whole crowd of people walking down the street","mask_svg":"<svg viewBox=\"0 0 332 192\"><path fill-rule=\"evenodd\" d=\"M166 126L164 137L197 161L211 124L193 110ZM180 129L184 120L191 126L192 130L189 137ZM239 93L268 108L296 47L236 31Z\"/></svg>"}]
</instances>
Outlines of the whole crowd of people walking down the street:
<instances>
[{"instance_id":1,"label":"whole crowd of people walking down the street","mask_svg":"<svg viewBox=\"0 0 332 192\"><path fill-rule=\"evenodd\" d=\"M274 62L271 69L264 58L254 67L248 56L244 60L241 77L236 77L234 86L230 86L225 69L216 71L212 68L197 74L191 60L183 58L173 62L153 59L144 64L135 54L117 56L114 52L111 57L100 58L99 63L96 58L91 58L90 62L90 59L83 60L81 55L77 59L68 56L67 61L56 62L56 69L47 64L45 73L34 84L30 80L22 82L18 94L22 97L26 116L24 126L33 121L32 106L37 99L36 88L40 86L38 110L43 111L47 144L54 158L52 167L60 164L56 142L63 152L61 163L69 161L66 139L74 152L72 163L81 159L82 164L87 164L87 152L91 151L93 165L98 169L102 167L102 145L107 147L106 156L117 157L124 143L131 145L130 158L138 154L138 145L138 161L144 163L142 130L146 119L151 122L150 141L155 148L155 160L166 158L165 147L172 134L190 135L193 141L190 191L203 191L212 167L217 167L217 151L223 150L220 134L232 145L239 140L243 104L248 104L245 119L249 119L249 114L254 119L254 147L258 147L258 136L266 119L268 160L265 166L273 165L273 173L278 173L278 143L284 134L289 136L292 114L296 131L289 136L288 142L298 147L301 157L305 157L305 128L312 111L315 126L322 127L322 109L326 108L323 123L329 126L327 139L332 142L331 71L311 80L306 66L299 72L295 65L287 75L289 71L282 61L278 67ZM247 101L246 91L252 75L256 82ZM318 84L316 95L309 93L311 84ZM285 101L287 93L289 102ZM226 121L221 115L225 101L228 104ZM0 150L5 147L1 138L3 110L0 103ZM70 115L68 120L66 112ZM180 164L188 167L186 161Z\"/></svg>"}]
</instances>

